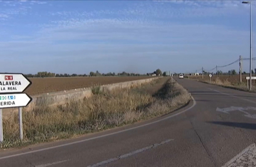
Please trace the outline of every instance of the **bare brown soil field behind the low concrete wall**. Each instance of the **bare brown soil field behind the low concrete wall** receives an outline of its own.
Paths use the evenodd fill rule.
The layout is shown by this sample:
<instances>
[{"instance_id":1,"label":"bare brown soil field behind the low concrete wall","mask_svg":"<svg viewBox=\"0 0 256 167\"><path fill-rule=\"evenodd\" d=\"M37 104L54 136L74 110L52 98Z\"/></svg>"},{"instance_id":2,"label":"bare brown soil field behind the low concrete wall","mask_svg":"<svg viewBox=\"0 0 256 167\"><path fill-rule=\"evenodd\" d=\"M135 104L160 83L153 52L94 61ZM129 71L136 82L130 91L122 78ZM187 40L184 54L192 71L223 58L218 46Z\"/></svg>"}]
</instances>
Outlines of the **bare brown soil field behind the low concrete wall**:
<instances>
[{"instance_id":1,"label":"bare brown soil field behind the low concrete wall","mask_svg":"<svg viewBox=\"0 0 256 167\"><path fill-rule=\"evenodd\" d=\"M107 85L111 83L126 82L131 80L147 79L152 76L127 76L127 77L45 77L29 78L32 85L25 90L30 96L52 93L64 90L92 87L93 85Z\"/></svg>"}]
</instances>

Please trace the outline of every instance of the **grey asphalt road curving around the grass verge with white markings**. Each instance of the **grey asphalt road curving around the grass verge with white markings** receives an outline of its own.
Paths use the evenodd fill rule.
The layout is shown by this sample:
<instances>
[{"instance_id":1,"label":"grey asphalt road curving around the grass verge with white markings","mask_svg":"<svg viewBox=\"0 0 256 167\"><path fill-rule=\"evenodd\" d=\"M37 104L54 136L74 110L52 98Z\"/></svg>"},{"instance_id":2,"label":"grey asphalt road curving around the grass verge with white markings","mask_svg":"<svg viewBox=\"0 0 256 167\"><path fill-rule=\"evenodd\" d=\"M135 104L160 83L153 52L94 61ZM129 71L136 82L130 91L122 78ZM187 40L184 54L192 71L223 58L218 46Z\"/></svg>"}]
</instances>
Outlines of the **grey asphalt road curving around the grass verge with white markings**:
<instances>
[{"instance_id":1,"label":"grey asphalt road curving around the grass verge with white markings","mask_svg":"<svg viewBox=\"0 0 256 167\"><path fill-rule=\"evenodd\" d=\"M81 138L0 151L0 166L223 166L256 142L256 94L176 79L185 108Z\"/></svg>"}]
</instances>

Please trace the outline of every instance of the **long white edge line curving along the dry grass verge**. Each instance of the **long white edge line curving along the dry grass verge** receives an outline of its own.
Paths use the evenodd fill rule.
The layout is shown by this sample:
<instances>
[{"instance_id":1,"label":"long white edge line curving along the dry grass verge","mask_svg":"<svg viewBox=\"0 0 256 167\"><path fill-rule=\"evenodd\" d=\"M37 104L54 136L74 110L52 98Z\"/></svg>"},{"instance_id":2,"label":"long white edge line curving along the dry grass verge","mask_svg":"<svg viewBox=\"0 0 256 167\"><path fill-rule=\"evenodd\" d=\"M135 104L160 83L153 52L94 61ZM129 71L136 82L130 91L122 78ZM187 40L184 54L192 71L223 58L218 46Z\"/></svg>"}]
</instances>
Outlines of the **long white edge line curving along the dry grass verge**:
<instances>
[{"instance_id":1,"label":"long white edge line curving along the dry grass verge","mask_svg":"<svg viewBox=\"0 0 256 167\"><path fill-rule=\"evenodd\" d=\"M94 140L94 139L104 138L104 137L107 137L107 136L116 135L116 134L118 134L118 133L123 133L123 132L127 132L127 131L130 131L130 130L138 129L138 128L140 128L140 127L145 127L145 126L149 126L149 125L151 125L151 124L159 123L159 122L164 121L164 120L167 120L167 119L169 119L169 118L176 117L177 115L183 114L184 112L189 111L190 109L192 109L192 108L196 105L196 100L193 98L193 96L191 96L191 97L192 97L192 100L193 100L193 105L192 105L192 106L190 106L189 108L185 109L184 111L178 112L178 113L176 113L176 114L170 115L169 117L163 118L163 119L161 119L161 120L154 121L154 122L152 122L152 123L143 124L143 125L141 125L141 126L136 126L136 127L130 128L130 129L120 130L120 131L118 131L118 132L113 132L113 133L109 133L109 134L107 134L107 135L101 135L101 136L97 136L97 137L94 137L94 138L84 139L84 140L81 140L81 141L69 142L69 143L67 143L67 144L56 145L56 146L54 146L54 147L47 147L47 148L42 148L42 149L39 149L39 150L28 151L28 152L25 152L25 153L13 154L13 155L11 155L11 156L4 156L4 157L0 157L0 160L1 160L1 159L8 159L8 158L10 158L10 157L23 156L23 155L31 154L31 153L37 153L37 152L40 152L40 151L51 150L51 149L54 149L54 148L65 147L65 146L67 146L67 145L78 144L78 143L81 143L81 142L92 141L92 140Z\"/></svg>"}]
</instances>

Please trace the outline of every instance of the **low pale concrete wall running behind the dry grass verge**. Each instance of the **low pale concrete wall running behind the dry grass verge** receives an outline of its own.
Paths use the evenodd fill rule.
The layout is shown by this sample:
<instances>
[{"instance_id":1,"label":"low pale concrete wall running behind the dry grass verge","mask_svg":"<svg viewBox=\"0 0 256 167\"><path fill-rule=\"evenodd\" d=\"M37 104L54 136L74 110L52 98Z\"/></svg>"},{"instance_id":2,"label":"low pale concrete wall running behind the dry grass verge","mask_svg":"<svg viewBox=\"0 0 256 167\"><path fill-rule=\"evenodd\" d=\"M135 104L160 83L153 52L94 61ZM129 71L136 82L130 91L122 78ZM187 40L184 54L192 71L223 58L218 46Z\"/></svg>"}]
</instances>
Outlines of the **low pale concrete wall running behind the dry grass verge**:
<instances>
[{"instance_id":1,"label":"low pale concrete wall running behind the dry grass verge","mask_svg":"<svg viewBox=\"0 0 256 167\"><path fill-rule=\"evenodd\" d=\"M128 82L101 85L101 90L106 90L106 89L113 90L114 88L137 87L142 85L143 83L148 83L158 78L160 77L152 77L148 79L132 80ZM64 103L67 103L70 100L84 99L84 98L89 98L90 96L92 96L91 87L80 88L80 89L69 90L69 91L61 91L57 93L43 94L41 96L33 96L32 102L26 108L30 110L30 109L33 109L34 106L40 106L44 104L49 106L63 105ZM8 115L8 113L13 113L15 111L17 111L17 108L3 109L3 114Z\"/></svg>"}]
</instances>

